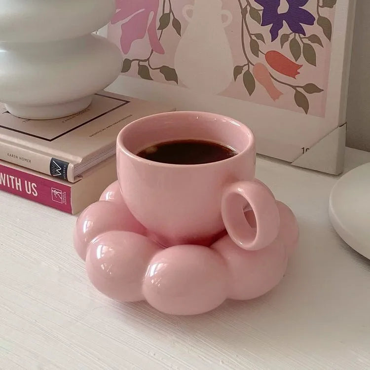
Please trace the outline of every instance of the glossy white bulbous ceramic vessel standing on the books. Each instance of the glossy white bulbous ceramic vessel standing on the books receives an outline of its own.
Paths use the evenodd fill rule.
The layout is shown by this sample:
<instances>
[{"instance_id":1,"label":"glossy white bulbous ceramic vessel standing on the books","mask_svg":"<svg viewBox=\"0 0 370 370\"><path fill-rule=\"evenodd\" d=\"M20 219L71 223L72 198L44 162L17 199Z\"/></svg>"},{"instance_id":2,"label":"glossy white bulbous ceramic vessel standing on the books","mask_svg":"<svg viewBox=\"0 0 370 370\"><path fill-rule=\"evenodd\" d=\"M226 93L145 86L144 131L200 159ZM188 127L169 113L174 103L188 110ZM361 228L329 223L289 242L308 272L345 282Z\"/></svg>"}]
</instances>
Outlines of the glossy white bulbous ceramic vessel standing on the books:
<instances>
[{"instance_id":1,"label":"glossy white bulbous ceramic vessel standing on the books","mask_svg":"<svg viewBox=\"0 0 370 370\"><path fill-rule=\"evenodd\" d=\"M115 0L0 0L0 102L29 119L84 110L121 72L118 47L92 35L114 13Z\"/></svg>"}]
</instances>

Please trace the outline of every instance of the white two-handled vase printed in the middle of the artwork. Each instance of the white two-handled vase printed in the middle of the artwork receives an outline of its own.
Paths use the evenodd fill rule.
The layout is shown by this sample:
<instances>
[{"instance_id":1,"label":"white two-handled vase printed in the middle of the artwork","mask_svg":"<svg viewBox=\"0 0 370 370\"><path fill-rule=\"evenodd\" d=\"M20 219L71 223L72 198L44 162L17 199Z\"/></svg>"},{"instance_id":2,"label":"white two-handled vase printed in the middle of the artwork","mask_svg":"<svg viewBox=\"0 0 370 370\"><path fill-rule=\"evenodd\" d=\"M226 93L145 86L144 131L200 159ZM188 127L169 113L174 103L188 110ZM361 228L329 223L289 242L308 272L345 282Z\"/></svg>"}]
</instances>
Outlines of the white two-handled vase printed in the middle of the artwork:
<instances>
[{"instance_id":1,"label":"white two-handled vase printed in the middle of the artwork","mask_svg":"<svg viewBox=\"0 0 370 370\"><path fill-rule=\"evenodd\" d=\"M192 15L189 13L192 11ZM181 82L195 91L219 94L233 80L233 59L224 28L232 21L221 0L195 0L183 8L189 22L175 54Z\"/></svg>"}]
</instances>

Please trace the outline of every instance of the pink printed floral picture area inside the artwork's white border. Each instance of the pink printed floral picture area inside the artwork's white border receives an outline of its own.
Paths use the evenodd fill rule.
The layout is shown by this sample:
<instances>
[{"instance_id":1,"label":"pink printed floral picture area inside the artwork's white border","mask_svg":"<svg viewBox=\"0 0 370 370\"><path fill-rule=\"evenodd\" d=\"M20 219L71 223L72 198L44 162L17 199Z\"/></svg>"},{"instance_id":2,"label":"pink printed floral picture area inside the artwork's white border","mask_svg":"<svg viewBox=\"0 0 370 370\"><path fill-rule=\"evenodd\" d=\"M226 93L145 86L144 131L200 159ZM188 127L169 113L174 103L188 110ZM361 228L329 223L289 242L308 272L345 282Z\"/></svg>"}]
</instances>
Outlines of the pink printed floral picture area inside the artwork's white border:
<instances>
[{"instance_id":1,"label":"pink printed floral picture area inside the artwork's white border","mask_svg":"<svg viewBox=\"0 0 370 370\"><path fill-rule=\"evenodd\" d=\"M325 117L336 0L116 0L122 74Z\"/></svg>"}]
</instances>

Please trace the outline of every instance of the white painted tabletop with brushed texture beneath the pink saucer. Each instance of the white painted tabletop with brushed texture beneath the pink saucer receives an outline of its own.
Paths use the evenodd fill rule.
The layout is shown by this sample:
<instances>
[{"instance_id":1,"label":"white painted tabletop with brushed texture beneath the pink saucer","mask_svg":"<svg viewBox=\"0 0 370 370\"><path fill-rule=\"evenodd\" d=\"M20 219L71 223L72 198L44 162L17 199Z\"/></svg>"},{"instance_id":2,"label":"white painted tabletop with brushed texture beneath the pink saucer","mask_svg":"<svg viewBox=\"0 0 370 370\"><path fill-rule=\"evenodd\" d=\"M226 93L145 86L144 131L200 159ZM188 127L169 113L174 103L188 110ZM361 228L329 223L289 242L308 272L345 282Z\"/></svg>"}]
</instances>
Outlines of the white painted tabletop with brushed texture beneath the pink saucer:
<instances>
[{"instance_id":1,"label":"white painted tabletop with brushed texture beneath the pink saucer","mask_svg":"<svg viewBox=\"0 0 370 370\"><path fill-rule=\"evenodd\" d=\"M347 150L347 170L370 153ZM259 158L299 249L270 293L199 316L119 304L89 283L75 217L0 192L0 369L370 369L370 261L335 234L336 177Z\"/></svg>"}]
</instances>

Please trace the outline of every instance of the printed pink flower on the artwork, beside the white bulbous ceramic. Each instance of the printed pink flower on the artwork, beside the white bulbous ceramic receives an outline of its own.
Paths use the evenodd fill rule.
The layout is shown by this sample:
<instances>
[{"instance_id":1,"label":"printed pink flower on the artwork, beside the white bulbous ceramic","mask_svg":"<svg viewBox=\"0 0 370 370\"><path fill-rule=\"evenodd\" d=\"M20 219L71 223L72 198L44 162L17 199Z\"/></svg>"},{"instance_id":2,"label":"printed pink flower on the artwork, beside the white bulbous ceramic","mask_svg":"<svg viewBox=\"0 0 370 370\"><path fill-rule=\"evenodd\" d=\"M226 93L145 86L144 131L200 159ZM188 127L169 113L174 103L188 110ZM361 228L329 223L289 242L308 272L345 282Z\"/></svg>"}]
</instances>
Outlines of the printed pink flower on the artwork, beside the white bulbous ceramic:
<instances>
[{"instance_id":1,"label":"printed pink flower on the artwork, beside the white bulbous ceramic","mask_svg":"<svg viewBox=\"0 0 370 370\"><path fill-rule=\"evenodd\" d=\"M153 51L164 54L157 34L158 7L159 0L116 0L117 11L111 23L123 21L121 48L124 54L130 51L135 40L144 38L147 32Z\"/></svg>"}]
</instances>

